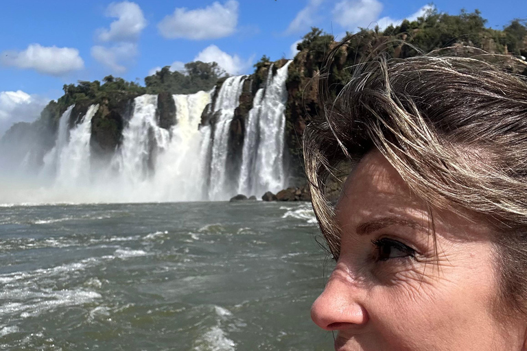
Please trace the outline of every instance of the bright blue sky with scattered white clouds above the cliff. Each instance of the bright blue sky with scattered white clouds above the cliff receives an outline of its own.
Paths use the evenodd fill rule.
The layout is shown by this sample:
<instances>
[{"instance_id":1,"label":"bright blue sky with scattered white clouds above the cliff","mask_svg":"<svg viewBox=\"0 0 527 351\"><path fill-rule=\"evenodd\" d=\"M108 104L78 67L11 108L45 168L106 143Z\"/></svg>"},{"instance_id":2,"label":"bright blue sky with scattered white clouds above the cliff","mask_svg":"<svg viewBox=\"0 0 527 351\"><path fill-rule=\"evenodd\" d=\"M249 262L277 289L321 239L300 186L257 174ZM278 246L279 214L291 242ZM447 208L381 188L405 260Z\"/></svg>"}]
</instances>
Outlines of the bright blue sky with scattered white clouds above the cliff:
<instances>
[{"instance_id":1,"label":"bright blue sky with scattered white clouds above the cliff","mask_svg":"<svg viewBox=\"0 0 527 351\"><path fill-rule=\"evenodd\" d=\"M426 1L426 0L425 0ZM31 121L62 85L108 74L136 80L157 67L219 61L250 73L264 54L292 58L312 25L342 35L417 16L419 0L3 1L0 12L0 135ZM526 0L439 0L440 12L476 8L488 26L527 18Z\"/></svg>"}]
</instances>

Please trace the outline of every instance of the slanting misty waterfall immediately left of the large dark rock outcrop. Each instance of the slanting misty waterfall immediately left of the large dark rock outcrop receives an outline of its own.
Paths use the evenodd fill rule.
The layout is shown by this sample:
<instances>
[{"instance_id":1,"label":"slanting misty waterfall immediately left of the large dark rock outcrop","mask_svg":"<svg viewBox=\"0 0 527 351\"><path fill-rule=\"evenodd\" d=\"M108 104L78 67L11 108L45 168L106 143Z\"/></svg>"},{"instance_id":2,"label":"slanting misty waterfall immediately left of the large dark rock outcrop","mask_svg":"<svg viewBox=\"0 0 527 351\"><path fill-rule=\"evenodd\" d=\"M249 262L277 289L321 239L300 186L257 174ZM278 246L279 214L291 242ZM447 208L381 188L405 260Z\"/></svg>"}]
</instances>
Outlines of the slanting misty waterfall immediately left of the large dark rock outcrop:
<instances>
[{"instance_id":1,"label":"slanting misty waterfall immediately left of the large dark rock outcrop","mask_svg":"<svg viewBox=\"0 0 527 351\"><path fill-rule=\"evenodd\" d=\"M67 145L60 145L65 139L58 141L57 188L71 189L89 182L91 119L98 109L99 105L88 108L80 123L70 130Z\"/></svg>"}]
</instances>

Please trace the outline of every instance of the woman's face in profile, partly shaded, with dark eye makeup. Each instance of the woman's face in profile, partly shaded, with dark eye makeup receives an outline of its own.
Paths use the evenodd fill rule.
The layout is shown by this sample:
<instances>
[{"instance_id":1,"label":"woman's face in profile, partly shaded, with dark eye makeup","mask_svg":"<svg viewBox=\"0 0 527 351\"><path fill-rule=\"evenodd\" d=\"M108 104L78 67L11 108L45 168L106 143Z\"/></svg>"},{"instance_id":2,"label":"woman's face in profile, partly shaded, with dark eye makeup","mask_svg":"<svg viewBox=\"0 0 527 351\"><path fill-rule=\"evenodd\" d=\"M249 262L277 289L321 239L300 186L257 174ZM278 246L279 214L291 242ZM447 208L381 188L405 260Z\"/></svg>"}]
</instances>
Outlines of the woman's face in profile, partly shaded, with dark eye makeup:
<instances>
[{"instance_id":1,"label":"woman's face in profile, partly shaded, with dark eye makeup","mask_svg":"<svg viewBox=\"0 0 527 351\"><path fill-rule=\"evenodd\" d=\"M498 317L489 228L435 211L379 152L360 162L337 205L340 258L312 319L336 350L525 350L526 326Z\"/></svg>"}]
</instances>

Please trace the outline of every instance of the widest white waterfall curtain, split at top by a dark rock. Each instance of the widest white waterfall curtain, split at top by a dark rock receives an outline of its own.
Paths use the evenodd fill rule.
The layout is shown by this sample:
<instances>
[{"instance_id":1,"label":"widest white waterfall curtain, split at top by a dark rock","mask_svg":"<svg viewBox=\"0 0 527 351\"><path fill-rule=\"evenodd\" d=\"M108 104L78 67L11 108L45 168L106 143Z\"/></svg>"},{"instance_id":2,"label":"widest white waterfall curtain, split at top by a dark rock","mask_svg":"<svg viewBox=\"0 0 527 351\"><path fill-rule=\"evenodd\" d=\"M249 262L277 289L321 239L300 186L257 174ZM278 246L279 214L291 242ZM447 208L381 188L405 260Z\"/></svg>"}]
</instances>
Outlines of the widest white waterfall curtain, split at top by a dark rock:
<instances>
[{"instance_id":1,"label":"widest white waterfall curtain, split at top by a dark rock","mask_svg":"<svg viewBox=\"0 0 527 351\"><path fill-rule=\"evenodd\" d=\"M172 97L176 124L170 130L158 125L157 95L135 98L132 118L123 131L121 152L113 160L114 170L101 184L101 193L104 189L108 201L202 199L198 125L202 111L211 101L211 93L200 91Z\"/></svg>"}]
</instances>

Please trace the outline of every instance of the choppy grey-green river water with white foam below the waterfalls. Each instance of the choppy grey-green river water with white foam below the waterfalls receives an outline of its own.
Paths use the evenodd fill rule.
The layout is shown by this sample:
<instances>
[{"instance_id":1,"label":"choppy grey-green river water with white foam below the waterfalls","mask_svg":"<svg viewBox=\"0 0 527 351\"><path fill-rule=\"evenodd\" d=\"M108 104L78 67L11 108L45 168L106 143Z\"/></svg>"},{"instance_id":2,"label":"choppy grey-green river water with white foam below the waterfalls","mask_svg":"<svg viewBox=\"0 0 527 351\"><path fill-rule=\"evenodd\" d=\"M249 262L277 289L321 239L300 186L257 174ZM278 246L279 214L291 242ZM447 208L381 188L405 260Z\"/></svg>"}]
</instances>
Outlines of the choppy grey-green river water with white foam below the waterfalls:
<instances>
[{"instance_id":1,"label":"choppy grey-green river water with white foam below the waterfalls","mask_svg":"<svg viewBox=\"0 0 527 351\"><path fill-rule=\"evenodd\" d=\"M307 204L10 206L0 349L329 350Z\"/></svg>"}]
</instances>

